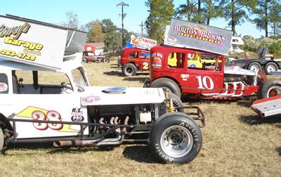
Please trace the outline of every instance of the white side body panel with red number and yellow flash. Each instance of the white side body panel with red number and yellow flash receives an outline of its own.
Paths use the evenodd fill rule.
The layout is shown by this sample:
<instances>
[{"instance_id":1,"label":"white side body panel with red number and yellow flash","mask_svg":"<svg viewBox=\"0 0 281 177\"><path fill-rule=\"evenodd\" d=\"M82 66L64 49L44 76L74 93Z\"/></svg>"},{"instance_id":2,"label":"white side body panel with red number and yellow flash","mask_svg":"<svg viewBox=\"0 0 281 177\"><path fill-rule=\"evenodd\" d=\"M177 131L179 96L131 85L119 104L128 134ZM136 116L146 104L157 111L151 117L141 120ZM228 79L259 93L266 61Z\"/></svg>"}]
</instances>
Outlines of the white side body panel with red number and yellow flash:
<instances>
[{"instance_id":1,"label":"white side body panel with red number and yellow flash","mask_svg":"<svg viewBox=\"0 0 281 177\"><path fill-rule=\"evenodd\" d=\"M86 106L81 105L79 94L40 94L41 88L34 89L32 84L19 86L18 79L11 71L1 73L4 74L8 78L8 86L3 89L8 92L0 92L0 99L5 100L0 105L1 113L6 117L22 120L88 122L87 109ZM34 91L32 94L20 91L23 89L34 89ZM13 122L11 125L14 126ZM19 139L77 136L80 133L80 126L67 124L15 122L15 128ZM84 129L84 134L89 134L89 130Z\"/></svg>"}]
</instances>

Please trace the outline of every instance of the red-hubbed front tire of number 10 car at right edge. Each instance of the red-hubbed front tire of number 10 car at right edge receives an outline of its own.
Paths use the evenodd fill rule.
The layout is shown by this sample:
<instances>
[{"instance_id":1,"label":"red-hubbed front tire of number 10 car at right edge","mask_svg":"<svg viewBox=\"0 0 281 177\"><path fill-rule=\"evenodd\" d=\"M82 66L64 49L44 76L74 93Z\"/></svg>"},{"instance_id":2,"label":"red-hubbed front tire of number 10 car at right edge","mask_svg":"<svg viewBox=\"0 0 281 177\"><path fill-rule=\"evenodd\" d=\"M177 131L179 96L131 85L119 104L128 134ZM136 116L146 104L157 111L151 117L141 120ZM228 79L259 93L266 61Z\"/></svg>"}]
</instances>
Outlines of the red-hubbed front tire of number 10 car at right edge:
<instances>
[{"instance_id":1,"label":"red-hubbed front tire of number 10 car at right edge","mask_svg":"<svg viewBox=\"0 0 281 177\"><path fill-rule=\"evenodd\" d=\"M268 79L259 86L258 99L281 95L281 79Z\"/></svg>"}]
</instances>

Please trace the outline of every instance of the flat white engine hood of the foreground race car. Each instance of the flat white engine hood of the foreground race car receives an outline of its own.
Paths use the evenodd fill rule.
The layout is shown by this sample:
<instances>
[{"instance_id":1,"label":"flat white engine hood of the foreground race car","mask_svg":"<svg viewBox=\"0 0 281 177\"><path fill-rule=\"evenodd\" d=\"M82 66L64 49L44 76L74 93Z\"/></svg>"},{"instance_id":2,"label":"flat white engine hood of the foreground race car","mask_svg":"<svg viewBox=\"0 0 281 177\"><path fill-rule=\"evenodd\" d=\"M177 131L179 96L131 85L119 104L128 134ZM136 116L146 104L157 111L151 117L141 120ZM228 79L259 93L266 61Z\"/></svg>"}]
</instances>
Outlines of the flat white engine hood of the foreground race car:
<instances>
[{"instance_id":1,"label":"flat white engine hood of the foreground race car","mask_svg":"<svg viewBox=\"0 0 281 177\"><path fill-rule=\"evenodd\" d=\"M134 87L86 87L81 95L81 105L129 105L162 103L163 89Z\"/></svg>"}]
</instances>

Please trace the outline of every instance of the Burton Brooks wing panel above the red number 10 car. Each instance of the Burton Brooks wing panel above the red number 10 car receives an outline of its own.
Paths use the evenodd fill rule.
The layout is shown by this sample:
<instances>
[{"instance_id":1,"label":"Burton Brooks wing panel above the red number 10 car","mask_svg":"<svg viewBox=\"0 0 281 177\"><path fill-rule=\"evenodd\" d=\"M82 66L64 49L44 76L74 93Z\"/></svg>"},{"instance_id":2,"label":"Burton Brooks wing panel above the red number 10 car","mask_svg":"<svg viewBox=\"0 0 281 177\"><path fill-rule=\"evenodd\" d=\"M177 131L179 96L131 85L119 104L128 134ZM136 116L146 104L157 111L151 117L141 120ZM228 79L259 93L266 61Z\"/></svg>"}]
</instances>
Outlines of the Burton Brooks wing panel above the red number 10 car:
<instances>
[{"instance_id":1,"label":"Burton Brooks wing panel above the red number 10 car","mask_svg":"<svg viewBox=\"0 0 281 177\"><path fill-rule=\"evenodd\" d=\"M172 19L166 27L164 44L228 55L232 32L195 22Z\"/></svg>"}]
</instances>

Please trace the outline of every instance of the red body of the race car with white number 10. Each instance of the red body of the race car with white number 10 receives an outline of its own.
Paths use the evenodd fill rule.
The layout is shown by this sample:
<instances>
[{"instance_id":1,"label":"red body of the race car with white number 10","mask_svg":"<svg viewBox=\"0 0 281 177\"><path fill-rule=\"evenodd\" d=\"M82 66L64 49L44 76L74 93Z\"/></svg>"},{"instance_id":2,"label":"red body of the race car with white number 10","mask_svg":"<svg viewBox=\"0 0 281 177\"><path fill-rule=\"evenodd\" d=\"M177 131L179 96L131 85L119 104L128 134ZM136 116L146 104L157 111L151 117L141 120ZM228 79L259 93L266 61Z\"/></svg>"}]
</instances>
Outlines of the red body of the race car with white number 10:
<instances>
[{"instance_id":1,"label":"red body of the race car with white number 10","mask_svg":"<svg viewBox=\"0 0 281 177\"><path fill-rule=\"evenodd\" d=\"M181 48L152 48L152 72L150 79L153 81L159 77L170 77L176 80L182 93L220 93L223 90L223 60L224 56L217 55L216 63L211 67L190 66L191 56L200 55L196 51ZM155 67L153 57L162 56L161 67ZM223 60L222 60L223 57ZM176 59L176 62L171 62ZM174 65L171 65L174 63ZM220 66L218 66L220 65Z\"/></svg>"}]
</instances>

